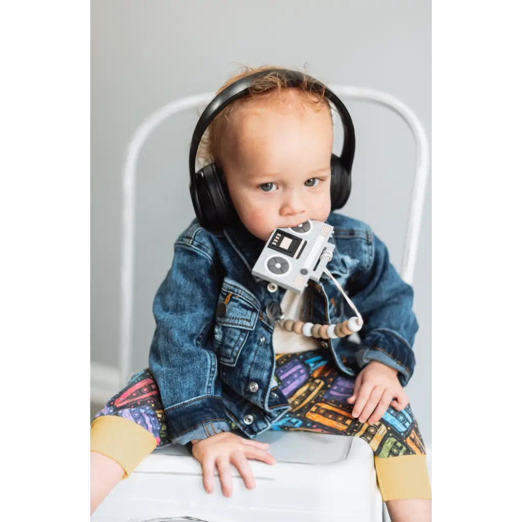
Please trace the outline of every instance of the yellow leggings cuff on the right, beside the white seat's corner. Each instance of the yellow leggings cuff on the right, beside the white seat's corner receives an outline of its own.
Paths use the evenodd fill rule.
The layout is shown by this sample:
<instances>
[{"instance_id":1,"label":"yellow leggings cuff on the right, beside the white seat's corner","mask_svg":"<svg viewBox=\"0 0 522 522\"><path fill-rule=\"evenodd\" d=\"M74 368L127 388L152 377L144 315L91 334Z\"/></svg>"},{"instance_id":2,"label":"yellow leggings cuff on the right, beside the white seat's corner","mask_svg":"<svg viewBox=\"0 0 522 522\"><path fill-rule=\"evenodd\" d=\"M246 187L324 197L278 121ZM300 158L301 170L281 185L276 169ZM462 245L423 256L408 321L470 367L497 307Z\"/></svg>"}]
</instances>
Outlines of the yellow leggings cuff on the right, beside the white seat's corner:
<instances>
[{"instance_id":1,"label":"yellow leggings cuff on the right, beside the white seat's corner","mask_svg":"<svg viewBox=\"0 0 522 522\"><path fill-rule=\"evenodd\" d=\"M432 499L425 455L375 457L375 471L384 502L399 499Z\"/></svg>"}]
</instances>

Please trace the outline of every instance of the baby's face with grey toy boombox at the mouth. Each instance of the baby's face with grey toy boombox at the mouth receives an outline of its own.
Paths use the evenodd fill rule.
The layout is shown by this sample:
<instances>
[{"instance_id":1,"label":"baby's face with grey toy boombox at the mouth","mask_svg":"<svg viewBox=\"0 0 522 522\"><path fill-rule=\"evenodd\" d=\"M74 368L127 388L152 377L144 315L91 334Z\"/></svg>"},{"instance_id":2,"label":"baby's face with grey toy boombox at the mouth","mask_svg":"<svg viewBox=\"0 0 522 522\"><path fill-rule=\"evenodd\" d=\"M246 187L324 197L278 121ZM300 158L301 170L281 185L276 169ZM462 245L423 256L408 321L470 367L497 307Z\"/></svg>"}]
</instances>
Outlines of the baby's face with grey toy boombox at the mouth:
<instances>
[{"instance_id":1,"label":"baby's face with grey toy boombox at the mouth","mask_svg":"<svg viewBox=\"0 0 522 522\"><path fill-rule=\"evenodd\" d=\"M267 241L278 227L326 220L334 134L325 106L288 90L240 107L228 131L222 167L248 231Z\"/></svg>"}]
</instances>

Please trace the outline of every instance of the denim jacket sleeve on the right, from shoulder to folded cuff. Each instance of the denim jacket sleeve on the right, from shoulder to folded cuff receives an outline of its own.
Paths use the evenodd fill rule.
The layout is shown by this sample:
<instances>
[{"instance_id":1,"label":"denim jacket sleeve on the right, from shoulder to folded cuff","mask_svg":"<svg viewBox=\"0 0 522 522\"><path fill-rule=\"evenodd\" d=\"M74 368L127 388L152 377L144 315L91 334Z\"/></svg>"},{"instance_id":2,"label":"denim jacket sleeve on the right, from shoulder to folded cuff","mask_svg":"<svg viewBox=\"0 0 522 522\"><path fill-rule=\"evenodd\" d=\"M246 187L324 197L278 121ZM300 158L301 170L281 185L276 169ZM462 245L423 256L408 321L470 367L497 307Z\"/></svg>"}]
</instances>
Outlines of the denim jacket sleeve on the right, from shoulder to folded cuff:
<instances>
[{"instance_id":1,"label":"denim jacket sleeve on the right, from shoulder to folded cuff","mask_svg":"<svg viewBox=\"0 0 522 522\"><path fill-rule=\"evenodd\" d=\"M372 360L393 367L406 386L415 366L412 346L419 329L413 289L390 263L386 245L375 234L372 238L370 264L354 282L351 298L364 320L357 360L361 367Z\"/></svg>"}]
</instances>

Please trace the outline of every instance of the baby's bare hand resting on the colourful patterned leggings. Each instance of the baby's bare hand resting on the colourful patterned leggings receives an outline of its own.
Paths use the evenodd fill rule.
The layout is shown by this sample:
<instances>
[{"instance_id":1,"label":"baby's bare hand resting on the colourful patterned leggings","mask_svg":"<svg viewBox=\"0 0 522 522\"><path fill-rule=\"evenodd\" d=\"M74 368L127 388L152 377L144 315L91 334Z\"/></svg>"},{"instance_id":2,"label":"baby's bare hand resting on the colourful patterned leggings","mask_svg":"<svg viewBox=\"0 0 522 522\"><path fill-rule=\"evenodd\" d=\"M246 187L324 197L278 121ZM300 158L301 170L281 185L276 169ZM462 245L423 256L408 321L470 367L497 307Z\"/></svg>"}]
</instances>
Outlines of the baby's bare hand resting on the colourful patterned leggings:
<instances>
[{"instance_id":1,"label":"baby's bare hand resting on the colourful patterned leggings","mask_svg":"<svg viewBox=\"0 0 522 522\"><path fill-rule=\"evenodd\" d=\"M355 379L353 395L348 402L354 405L354 418L374 424L390 405L396 410L404 410L408 406L408 396L399 383L397 370L381 362L370 361Z\"/></svg>"}]
</instances>

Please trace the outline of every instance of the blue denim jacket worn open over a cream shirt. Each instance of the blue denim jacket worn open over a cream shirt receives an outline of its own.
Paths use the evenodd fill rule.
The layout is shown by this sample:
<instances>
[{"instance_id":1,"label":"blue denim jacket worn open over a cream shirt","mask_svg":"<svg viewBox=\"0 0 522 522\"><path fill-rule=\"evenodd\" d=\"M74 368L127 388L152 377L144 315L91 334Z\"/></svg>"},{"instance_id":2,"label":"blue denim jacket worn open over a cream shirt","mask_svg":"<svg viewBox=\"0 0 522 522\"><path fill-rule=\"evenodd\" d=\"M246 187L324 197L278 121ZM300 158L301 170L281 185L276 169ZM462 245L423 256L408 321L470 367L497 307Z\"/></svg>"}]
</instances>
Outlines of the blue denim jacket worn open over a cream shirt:
<instances>
[{"instance_id":1,"label":"blue denim jacket worn open over a cream shirt","mask_svg":"<svg viewBox=\"0 0 522 522\"><path fill-rule=\"evenodd\" d=\"M336 245L327 268L364 326L361 343L328 339L322 349L347 376L354 378L376 360L396 369L405 386L415 365L413 290L368 226L335 212L327 223ZM173 442L230 431L232 423L254 438L290 409L274 380L275 325L266 312L286 290L270 292L267 281L252 275L263 247L241 224L212 233L196 221L175 242L172 266L153 302L156 330L149 355ZM304 321L331 324L354 315L326 275L309 281L305 291ZM225 300L227 313L216 314Z\"/></svg>"}]
</instances>

